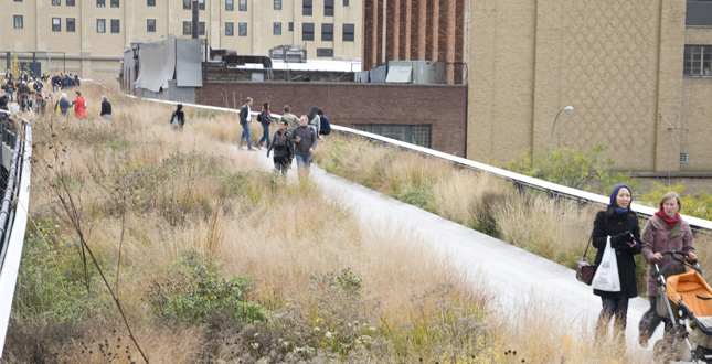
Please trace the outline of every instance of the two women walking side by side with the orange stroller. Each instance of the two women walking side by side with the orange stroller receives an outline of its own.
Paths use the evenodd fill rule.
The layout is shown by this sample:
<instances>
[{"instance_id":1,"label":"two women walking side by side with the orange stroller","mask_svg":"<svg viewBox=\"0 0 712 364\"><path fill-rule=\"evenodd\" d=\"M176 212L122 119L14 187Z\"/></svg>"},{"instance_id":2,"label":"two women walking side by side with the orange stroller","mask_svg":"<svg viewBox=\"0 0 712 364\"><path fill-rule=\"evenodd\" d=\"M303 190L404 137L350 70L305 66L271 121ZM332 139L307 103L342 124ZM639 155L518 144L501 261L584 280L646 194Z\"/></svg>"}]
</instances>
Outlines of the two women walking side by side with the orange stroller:
<instances>
[{"instance_id":1,"label":"two women walking side by side with the orange stroller","mask_svg":"<svg viewBox=\"0 0 712 364\"><path fill-rule=\"evenodd\" d=\"M594 289L594 295L601 297L603 309L596 325L596 338L603 340L608 332L612 318L614 319L614 341L625 343L625 330L628 314L628 300L638 296L636 286L635 255L642 254L649 265L647 276L647 293L650 298L650 309L644 314L638 325L638 342L642 347L648 346L648 340L656 328L666 322L666 335L671 330L669 319L663 319L656 311L658 280L653 264L660 267L672 258L662 256L668 250L683 251L688 263L697 261L693 236L690 225L680 217L682 203L676 192L669 192L659 203L659 210L648 220L642 234L638 225L638 216L630 208L633 194L626 184L618 184L610 194L610 202L605 211L599 211L594 221L592 242L596 254L595 265L602 263L604 250L610 237L610 247L615 250L618 265L620 290L616 292ZM684 272L684 266L672 261L669 274Z\"/></svg>"}]
</instances>

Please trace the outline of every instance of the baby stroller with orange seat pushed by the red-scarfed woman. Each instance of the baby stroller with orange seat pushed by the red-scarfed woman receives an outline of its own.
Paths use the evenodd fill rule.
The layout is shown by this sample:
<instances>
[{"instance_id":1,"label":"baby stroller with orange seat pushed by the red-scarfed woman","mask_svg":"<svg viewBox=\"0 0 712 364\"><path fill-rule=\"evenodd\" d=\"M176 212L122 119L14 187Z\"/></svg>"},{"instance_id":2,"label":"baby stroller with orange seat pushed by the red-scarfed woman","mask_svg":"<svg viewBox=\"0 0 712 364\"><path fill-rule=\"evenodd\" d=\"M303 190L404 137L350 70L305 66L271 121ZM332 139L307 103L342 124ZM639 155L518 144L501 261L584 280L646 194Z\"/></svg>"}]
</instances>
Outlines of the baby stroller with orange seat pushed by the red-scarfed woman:
<instances>
[{"instance_id":1,"label":"baby stroller with orange seat pushed by the red-scarfed woman","mask_svg":"<svg viewBox=\"0 0 712 364\"><path fill-rule=\"evenodd\" d=\"M687 253L663 251L670 261L662 268L655 261L658 276L659 315L670 320L671 329L655 344L656 363L712 363L712 288L704 281L700 265L684 261ZM666 271L674 261L689 268L687 272L669 276Z\"/></svg>"}]
</instances>

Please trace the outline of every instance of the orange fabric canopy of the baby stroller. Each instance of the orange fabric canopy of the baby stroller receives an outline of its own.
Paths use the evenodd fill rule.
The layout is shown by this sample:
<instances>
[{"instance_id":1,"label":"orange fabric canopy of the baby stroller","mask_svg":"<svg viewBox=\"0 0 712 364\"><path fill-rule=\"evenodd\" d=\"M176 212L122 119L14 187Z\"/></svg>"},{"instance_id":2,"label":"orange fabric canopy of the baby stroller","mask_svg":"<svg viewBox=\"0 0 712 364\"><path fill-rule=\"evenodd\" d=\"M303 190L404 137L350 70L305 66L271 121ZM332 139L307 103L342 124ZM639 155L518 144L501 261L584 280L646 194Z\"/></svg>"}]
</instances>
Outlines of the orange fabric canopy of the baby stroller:
<instances>
[{"instance_id":1,"label":"orange fabric canopy of the baby stroller","mask_svg":"<svg viewBox=\"0 0 712 364\"><path fill-rule=\"evenodd\" d=\"M712 315L712 288L699 272L688 269L684 274L671 276L666 287L668 298L678 304L682 300L695 317Z\"/></svg>"}]
</instances>

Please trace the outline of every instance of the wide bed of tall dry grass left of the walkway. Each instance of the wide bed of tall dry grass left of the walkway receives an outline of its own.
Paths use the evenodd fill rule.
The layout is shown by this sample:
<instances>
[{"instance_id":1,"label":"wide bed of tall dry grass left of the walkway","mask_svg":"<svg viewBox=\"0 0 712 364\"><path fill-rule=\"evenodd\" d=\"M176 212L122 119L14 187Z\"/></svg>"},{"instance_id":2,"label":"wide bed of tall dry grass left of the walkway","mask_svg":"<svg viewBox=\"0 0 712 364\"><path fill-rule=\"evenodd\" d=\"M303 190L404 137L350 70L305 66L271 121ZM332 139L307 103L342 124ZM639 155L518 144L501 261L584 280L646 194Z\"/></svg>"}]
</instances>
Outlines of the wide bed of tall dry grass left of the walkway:
<instances>
[{"instance_id":1,"label":"wide bed of tall dry grass left of the walkway","mask_svg":"<svg viewBox=\"0 0 712 364\"><path fill-rule=\"evenodd\" d=\"M49 114L33 121L28 246L49 256L46 266L21 272L23 279L18 285L19 290L42 286L53 292L52 298L61 304L47 306L45 310L52 312L42 315L72 318L70 326L75 334L56 329L64 322L39 320L36 310L42 306L28 310L23 302L36 302L31 295L18 295L10 342L34 343L23 347L31 346L26 350L35 354L38 347L46 349L40 353L43 361L98 363L106 360L99 357L98 344L108 341L120 346L120 352L113 352L117 360L129 355L130 361L139 360L107 299L106 287L91 267L91 290L82 291L77 227L72 226L59 200L71 197L84 238L152 362L248 363L259 356L274 361L274 355L285 350L278 339L295 333L302 335L294 336L290 345L319 342L329 347L314 347L320 351L311 354L311 360L319 362L319 357L333 355L329 351L338 343L315 336L312 329L327 322L343 331L347 319L368 323L365 330L373 336L366 340L368 345L360 343L344 356L352 360L379 355L379 362L413 362L465 351L465 344L448 343L451 333L435 335L438 329L429 325L459 317L480 322L487 298L474 277L453 269L447 258L418 244L416 236L361 225L348 208L325 199L318 185L296 179L283 181L265 171L262 156L234 147L242 129L232 114L187 107L185 127L174 131L168 125L172 107L123 98L87 83L81 90L89 104L89 118ZM113 104L110 121L98 117L102 95ZM261 133L253 130L253 141ZM418 173L435 178L427 169ZM176 278L178 263L189 251L213 261L222 277L254 277L249 298L264 306L274 320L291 322L294 326L285 325L294 330L272 329L256 336L252 334L256 329L249 325L227 328L230 320L173 326L156 317L146 298L150 287ZM329 287L315 290L315 277L344 269L362 279L363 293L344 301ZM31 279L39 286L30 286ZM444 303L449 306L444 308ZM71 311L64 312L65 306L72 307ZM403 326L404 321L412 328ZM30 326L65 335L19 334ZM248 334L252 336L246 339ZM406 338L414 334L427 335L431 341L408 342ZM128 349L117 343L119 336ZM215 338L232 339L208 345ZM261 342L255 338L267 339ZM392 345L387 338L402 342ZM272 349L259 352L258 343ZM486 342L482 347L488 345ZM363 352L366 346L370 353ZM26 352L6 347L9 362L23 361Z\"/></svg>"}]
</instances>

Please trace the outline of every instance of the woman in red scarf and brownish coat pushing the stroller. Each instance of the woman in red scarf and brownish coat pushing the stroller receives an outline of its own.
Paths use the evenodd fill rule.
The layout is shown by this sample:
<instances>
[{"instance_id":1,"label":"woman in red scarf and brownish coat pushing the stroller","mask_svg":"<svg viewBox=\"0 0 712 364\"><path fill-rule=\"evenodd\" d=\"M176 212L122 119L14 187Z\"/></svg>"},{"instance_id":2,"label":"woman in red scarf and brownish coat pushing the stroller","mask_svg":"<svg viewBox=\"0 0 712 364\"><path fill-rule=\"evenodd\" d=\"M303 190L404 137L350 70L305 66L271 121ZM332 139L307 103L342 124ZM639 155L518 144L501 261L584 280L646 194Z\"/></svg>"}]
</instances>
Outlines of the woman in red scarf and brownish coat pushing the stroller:
<instances>
[{"instance_id":1,"label":"woman in red scarf and brownish coat pushing the stroller","mask_svg":"<svg viewBox=\"0 0 712 364\"><path fill-rule=\"evenodd\" d=\"M655 329L665 321L666 333L672 329L670 320L661 318L656 312L656 300L658 296L658 278L655 271L653 259L658 263L658 267L662 267L671 258L669 255L665 257L662 251L677 250L688 254L688 261L698 259L694 255L694 246L692 245L692 231L690 224L680 218L678 213L682 208L680 196L674 192L668 192L662 200L660 200L660 210L655 213L655 216L648 220L646 227L642 228L642 257L649 264L648 268L648 296L650 297L650 310L642 315L639 324L638 342L640 346L647 347L648 340L652 336ZM680 263L673 263L668 272L677 275L684 272L684 267ZM666 335L667 336L667 335Z\"/></svg>"}]
</instances>

